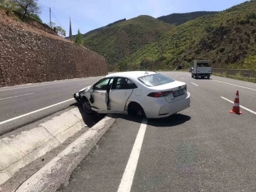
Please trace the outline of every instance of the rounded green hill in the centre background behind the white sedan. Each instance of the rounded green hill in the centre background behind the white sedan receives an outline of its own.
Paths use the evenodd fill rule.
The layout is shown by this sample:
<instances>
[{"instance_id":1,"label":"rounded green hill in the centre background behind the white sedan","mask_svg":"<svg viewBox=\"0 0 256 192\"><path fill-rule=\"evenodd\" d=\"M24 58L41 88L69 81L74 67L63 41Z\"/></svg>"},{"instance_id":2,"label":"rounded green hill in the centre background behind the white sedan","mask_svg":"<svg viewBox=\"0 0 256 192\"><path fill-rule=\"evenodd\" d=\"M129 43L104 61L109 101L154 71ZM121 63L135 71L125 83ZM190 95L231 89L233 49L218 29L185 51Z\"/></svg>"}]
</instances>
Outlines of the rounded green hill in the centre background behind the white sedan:
<instances>
[{"instance_id":1,"label":"rounded green hill in the centre background behind the white sedan","mask_svg":"<svg viewBox=\"0 0 256 192\"><path fill-rule=\"evenodd\" d=\"M103 55L107 63L114 64L156 41L171 28L174 26L151 16L138 16L85 34L85 46Z\"/></svg>"}]
</instances>

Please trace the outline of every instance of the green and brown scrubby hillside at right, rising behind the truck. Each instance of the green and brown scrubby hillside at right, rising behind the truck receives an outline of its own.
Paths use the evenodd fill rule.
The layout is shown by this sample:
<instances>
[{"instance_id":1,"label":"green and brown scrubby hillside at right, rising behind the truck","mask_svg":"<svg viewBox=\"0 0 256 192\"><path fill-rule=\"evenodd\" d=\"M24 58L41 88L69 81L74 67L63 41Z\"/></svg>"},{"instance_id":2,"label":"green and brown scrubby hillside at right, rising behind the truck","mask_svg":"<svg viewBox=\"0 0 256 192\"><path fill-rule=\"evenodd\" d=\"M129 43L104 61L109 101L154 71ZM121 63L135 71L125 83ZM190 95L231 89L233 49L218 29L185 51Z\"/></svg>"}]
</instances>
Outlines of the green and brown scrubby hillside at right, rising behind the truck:
<instances>
[{"instance_id":1,"label":"green and brown scrubby hillside at right, rising behind the truck","mask_svg":"<svg viewBox=\"0 0 256 192\"><path fill-rule=\"evenodd\" d=\"M256 63L256 0L183 23L122 60L160 68L213 59L215 67L248 68ZM250 68L253 68L252 64Z\"/></svg>"}]
</instances>

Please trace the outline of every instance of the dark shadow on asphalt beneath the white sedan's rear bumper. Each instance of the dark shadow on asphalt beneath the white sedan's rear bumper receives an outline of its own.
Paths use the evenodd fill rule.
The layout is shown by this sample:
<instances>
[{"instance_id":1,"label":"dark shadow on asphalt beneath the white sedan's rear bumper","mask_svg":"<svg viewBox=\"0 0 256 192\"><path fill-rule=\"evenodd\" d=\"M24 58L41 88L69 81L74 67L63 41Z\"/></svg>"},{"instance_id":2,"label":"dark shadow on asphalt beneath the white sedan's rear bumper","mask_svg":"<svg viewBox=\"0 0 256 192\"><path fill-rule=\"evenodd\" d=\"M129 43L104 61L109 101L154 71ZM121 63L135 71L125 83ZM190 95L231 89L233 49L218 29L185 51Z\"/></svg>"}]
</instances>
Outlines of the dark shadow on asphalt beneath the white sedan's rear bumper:
<instances>
[{"instance_id":1,"label":"dark shadow on asphalt beneath the white sedan's rear bumper","mask_svg":"<svg viewBox=\"0 0 256 192\"><path fill-rule=\"evenodd\" d=\"M174 114L170 117L162 118L162 119L149 119L148 125L154 127L174 127L180 124L184 124L191 119L186 114Z\"/></svg>"}]
</instances>

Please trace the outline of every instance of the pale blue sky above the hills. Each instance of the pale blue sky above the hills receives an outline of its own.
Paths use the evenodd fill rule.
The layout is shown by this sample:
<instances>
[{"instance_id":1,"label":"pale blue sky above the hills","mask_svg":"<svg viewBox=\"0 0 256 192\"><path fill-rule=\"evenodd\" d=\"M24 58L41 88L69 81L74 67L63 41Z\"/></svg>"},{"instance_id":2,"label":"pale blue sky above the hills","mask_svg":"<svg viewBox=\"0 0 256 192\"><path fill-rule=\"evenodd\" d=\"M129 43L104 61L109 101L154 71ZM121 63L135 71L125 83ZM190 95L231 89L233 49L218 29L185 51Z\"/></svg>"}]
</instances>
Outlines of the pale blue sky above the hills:
<instances>
[{"instance_id":1,"label":"pale blue sky above the hills","mask_svg":"<svg viewBox=\"0 0 256 192\"><path fill-rule=\"evenodd\" d=\"M40 17L44 23L52 21L69 33L69 19L73 35L87 33L122 18L139 15L153 17L193 11L223 11L245 0L38 0Z\"/></svg>"}]
</instances>

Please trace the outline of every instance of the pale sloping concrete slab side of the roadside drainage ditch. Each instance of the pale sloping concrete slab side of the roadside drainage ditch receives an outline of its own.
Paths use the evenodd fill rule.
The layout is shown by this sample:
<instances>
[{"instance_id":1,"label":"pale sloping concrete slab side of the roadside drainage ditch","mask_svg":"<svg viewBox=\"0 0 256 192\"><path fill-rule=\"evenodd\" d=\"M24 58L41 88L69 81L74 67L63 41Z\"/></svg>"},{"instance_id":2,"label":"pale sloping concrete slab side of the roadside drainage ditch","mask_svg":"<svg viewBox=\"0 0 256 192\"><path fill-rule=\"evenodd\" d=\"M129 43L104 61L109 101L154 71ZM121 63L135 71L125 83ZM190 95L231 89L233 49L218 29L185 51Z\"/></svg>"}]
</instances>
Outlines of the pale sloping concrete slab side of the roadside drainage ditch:
<instances>
[{"instance_id":1,"label":"pale sloping concrete slab side of the roadside drainage ditch","mask_svg":"<svg viewBox=\"0 0 256 192\"><path fill-rule=\"evenodd\" d=\"M33 129L0 139L0 184L85 127L78 108L73 108Z\"/></svg>"}]
</instances>

